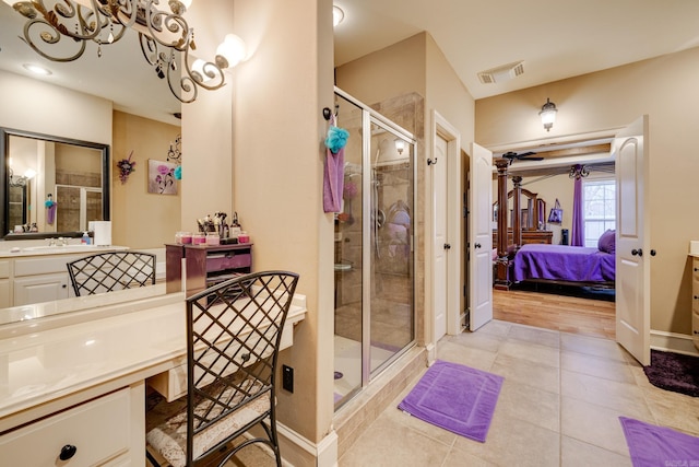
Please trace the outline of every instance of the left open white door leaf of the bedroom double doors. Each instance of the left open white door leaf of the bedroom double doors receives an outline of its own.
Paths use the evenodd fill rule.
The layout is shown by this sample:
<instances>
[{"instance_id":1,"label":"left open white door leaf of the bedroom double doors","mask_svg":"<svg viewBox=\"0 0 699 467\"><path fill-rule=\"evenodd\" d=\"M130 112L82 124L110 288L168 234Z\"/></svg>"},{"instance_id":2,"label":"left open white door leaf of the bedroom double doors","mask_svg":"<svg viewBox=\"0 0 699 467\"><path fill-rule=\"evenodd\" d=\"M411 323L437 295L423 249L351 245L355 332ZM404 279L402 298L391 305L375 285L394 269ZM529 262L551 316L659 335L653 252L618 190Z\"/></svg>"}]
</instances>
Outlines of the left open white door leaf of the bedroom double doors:
<instances>
[{"instance_id":1,"label":"left open white door leaf of the bedroom double doors","mask_svg":"<svg viewBox=\"0 0 699 467\"><path fill-rule=\"evenodd\" d=\"M470 329L493 319L493 153L473 143L469 183Z\"/></svg>"}]
</instances>

